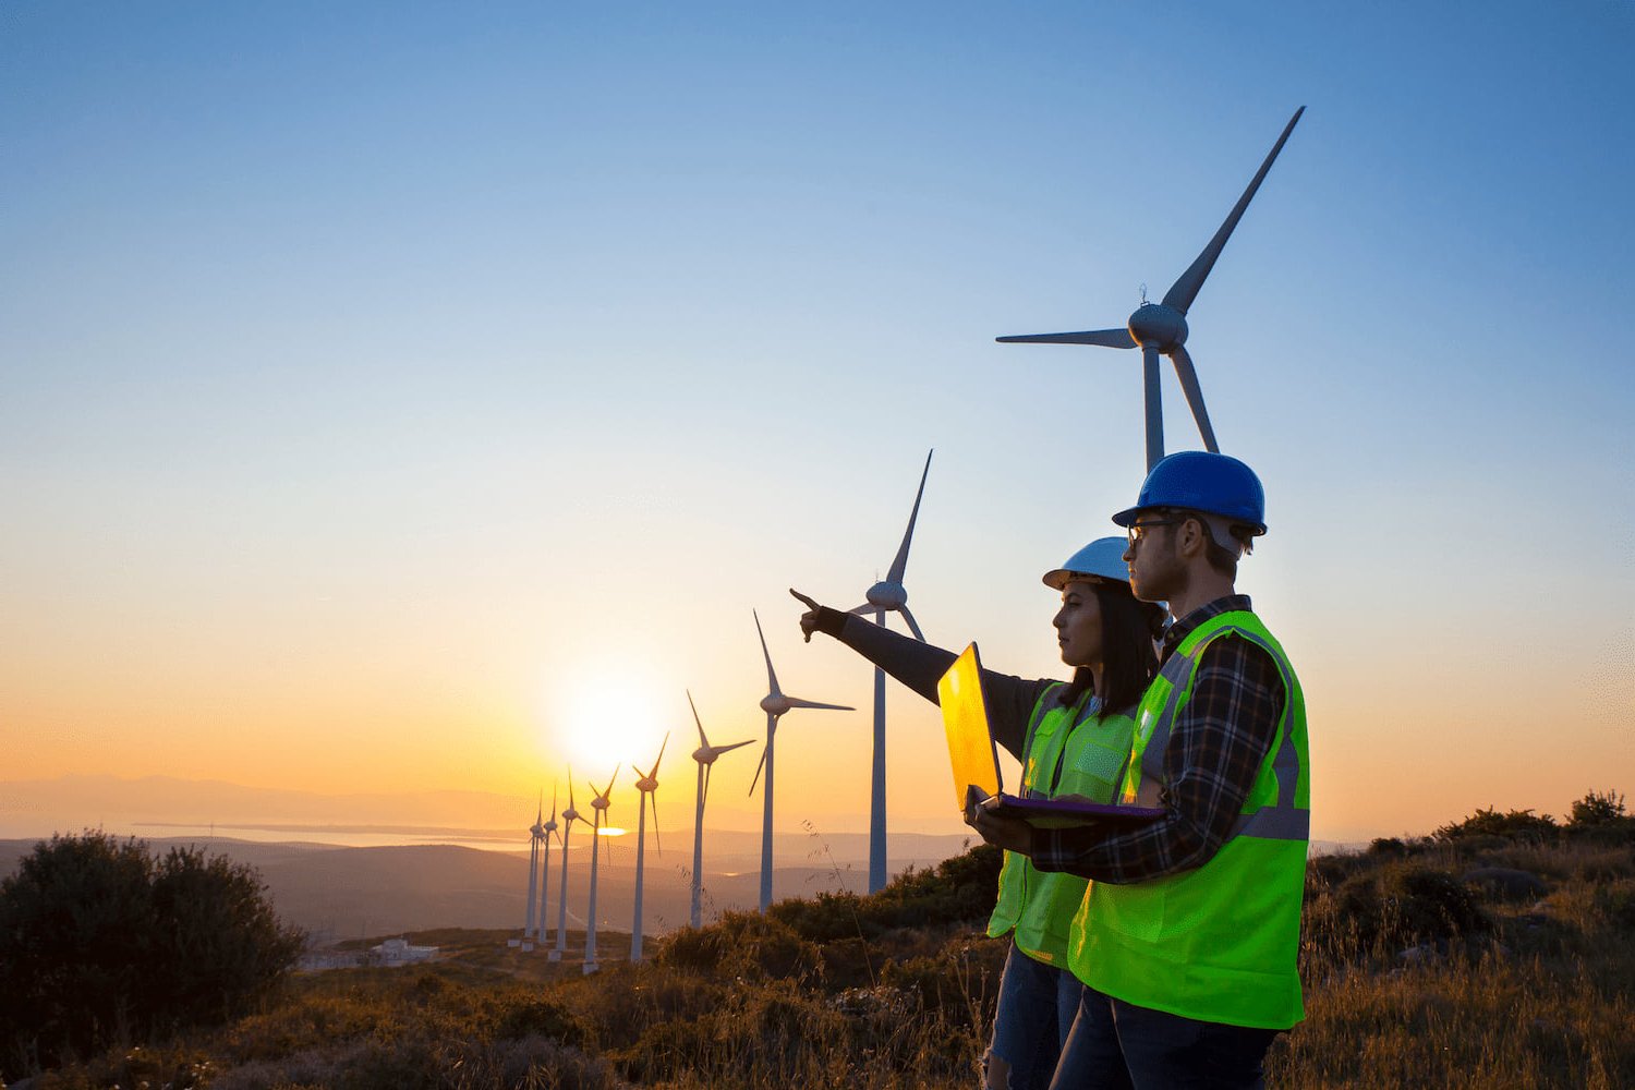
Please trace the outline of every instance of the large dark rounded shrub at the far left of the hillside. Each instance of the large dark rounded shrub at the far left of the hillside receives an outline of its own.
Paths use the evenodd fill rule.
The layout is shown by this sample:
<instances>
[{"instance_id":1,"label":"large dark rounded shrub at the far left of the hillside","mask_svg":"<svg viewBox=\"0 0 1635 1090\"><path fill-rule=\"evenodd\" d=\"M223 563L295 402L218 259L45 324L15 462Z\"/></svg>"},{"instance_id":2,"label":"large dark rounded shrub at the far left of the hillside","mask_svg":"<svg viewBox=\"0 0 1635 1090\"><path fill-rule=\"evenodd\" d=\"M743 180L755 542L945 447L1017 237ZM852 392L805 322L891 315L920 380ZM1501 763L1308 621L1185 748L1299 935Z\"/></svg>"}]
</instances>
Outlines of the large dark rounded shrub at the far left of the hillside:
<instances>
[{"instance_id":1,"label":"large dark rounded shrub at the far left of the hillside","mask_svg":"<svg viewBox=\"0 0 1635 1090\"><path fill-rule=\"evenodd\" d=\"M52 837L0 882L0 1070L242 1015L301 945L245 866Z\"/></svg>"}]
</instances>

